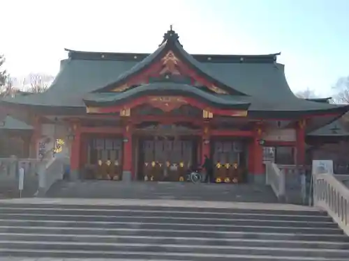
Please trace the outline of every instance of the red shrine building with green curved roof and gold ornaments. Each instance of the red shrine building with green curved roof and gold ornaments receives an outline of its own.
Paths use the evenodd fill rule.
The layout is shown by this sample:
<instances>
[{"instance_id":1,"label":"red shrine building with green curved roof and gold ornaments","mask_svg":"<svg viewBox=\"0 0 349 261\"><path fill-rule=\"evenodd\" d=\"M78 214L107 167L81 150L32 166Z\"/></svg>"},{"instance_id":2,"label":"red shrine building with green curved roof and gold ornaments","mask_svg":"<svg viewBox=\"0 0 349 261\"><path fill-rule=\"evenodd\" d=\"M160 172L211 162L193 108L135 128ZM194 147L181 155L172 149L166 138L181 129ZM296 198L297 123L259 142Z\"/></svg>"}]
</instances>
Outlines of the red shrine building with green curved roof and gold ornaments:
<instances>
[{"instance_id":1,"label":"red shrine building with green curved roof and gold ornaments","mask_svg":"<svg viewBox=\"0 0 349 261\"><path fill-rule=\"evenodd\" d=\"M152 54L67 49L45 93L1 106L33 127L31 157L58 146L72 179L181 182L207 155L216 182L230 183L262 182L269 148L303 165L306 135L349 110L296 97L280 53L184 47L171 28Z\"/></svg>"}]
</instances>

